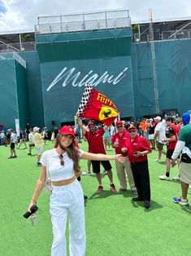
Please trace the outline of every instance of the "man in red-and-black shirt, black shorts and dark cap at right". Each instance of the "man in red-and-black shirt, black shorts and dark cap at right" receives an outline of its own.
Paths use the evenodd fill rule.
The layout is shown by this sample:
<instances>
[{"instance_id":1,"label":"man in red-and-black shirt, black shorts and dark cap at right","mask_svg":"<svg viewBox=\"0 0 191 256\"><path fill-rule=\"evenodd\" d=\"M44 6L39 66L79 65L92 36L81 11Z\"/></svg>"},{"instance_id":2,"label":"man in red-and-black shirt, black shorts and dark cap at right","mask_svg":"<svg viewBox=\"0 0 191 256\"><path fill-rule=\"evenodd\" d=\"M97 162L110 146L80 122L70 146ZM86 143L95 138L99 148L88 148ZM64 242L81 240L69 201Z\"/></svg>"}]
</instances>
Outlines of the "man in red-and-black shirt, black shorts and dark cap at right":
<instances>
[{"instance_id":1,"label":"man in red-and-black shirt, black shorts and dark cap at right","mask_svg":"<svg viewBox=\"0 0 191 256\"><path fill-rule=\"evenodd\" d=\"M170 180L170 170L171 170L171 156L175 150L176 142L178 140L179 129L174 124L173 117L166 118L167 130L166 138L163 139L164 142L167 142L167 157L166 157L166 174L158 176L159 179ZM180 158L180 157L178 157ZM179 161L179 160L177 160ZM179 161L180 163L180 161Z\"/></svg>"}]
</instances>

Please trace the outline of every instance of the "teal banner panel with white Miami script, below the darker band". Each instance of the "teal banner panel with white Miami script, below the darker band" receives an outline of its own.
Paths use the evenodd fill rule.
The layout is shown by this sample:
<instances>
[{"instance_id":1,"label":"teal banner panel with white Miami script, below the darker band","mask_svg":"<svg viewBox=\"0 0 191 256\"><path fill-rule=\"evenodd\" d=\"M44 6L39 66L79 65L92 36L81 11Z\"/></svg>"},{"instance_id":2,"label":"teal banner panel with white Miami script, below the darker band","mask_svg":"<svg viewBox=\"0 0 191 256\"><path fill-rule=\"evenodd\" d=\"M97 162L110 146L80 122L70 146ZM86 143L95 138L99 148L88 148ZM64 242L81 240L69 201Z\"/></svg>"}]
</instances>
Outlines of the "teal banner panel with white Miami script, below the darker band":
<instances>
[{"instance_id":1,"label":"teal banner panel with white Miami script, below the darker band","mask_svg":"<svg viewBox=\"0 0 191 256\"><path fill-rule=\"evenodd\" d=\"M41 83L46 126L74 120L86 84L111 99L121 117L134 116L130 56L44 63Z\"/></svg>"}]
</instances>

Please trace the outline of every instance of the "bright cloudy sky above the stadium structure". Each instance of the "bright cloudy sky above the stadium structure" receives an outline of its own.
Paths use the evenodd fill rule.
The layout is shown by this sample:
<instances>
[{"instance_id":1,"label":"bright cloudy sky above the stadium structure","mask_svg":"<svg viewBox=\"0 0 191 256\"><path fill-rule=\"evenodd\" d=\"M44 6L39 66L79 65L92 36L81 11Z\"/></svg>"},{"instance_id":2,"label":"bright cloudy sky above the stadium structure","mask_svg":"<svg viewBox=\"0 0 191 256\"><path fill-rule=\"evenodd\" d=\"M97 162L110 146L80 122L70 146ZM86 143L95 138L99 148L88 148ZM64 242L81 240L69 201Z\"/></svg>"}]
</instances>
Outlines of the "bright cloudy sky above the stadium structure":
<instances>
[{"instance_id":1,"label":"bright cloudy sky above the stadium structure","mask_svg":"<svg viewBox=\"0 0 191 256\"><path fill-rule=\"evenodd\" d=\"M39 15L67 14L127 8L132 21L163 19L191 15L190 0L2 0L5 13L0 13L0 31L34 29Z\"/></svg>"}]
</instances>

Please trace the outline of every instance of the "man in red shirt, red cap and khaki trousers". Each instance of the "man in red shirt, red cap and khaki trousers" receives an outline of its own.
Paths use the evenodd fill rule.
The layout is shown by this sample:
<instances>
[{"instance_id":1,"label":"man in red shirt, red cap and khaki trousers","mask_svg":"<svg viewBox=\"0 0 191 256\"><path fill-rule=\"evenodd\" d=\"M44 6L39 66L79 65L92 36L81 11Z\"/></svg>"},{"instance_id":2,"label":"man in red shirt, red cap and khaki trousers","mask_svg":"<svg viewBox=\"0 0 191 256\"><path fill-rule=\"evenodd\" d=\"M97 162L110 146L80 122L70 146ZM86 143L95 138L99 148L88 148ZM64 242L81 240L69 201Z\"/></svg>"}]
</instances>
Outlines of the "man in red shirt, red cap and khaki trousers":
<instances>
[{"instance_id":1,"label":"man in red shirt, red cap and khaki trousers","mask_svg":"<svg viewBox=\"0 0 191 256\"><path fill-rule=\"evenodd\" d=\"M124 129L123 121L116 121L115 126L117 133L114 135L112 139L111 146L112 148L115 148L116 154L123 154L123 152L121 152L121 148L124 148L124 143L127 139L130 139L130 136L128 135L128 131ZM132 169L128 156L125 155L124 163L119 163L119 161L115 161L115 167L117 171L117 177L120 183L119 192L124 192L127 190L127 180L124 172L125 170L128 176L128 182L132 190L132 193L137 194L137 188L135 187L135 182L132 176Z\"/></svg>"}]
</instances>

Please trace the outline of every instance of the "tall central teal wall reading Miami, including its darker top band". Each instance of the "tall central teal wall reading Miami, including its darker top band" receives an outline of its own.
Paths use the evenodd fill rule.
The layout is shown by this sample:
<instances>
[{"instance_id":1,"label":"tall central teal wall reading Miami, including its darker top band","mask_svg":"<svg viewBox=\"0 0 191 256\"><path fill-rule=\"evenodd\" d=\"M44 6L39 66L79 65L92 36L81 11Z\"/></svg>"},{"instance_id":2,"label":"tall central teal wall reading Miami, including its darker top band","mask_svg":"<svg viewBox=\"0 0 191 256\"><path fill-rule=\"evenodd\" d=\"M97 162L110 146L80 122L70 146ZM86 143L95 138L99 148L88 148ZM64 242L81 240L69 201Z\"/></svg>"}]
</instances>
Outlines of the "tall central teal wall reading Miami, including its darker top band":
<instances>
[{"instance_id":1,"label":"tall central teal wall reading Miami, including its darker top band","mask_svg":"<svg viewBox=\"0 0 191 256\"><path fill-rule=\"evenodd\" d=\"M121 117L134 116L131 36L131 29L37 36L46 126L74 121L85 82L108 96Z\"/></svg>"}]
</instances>

